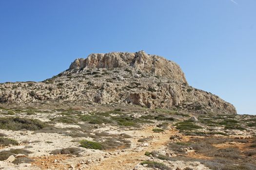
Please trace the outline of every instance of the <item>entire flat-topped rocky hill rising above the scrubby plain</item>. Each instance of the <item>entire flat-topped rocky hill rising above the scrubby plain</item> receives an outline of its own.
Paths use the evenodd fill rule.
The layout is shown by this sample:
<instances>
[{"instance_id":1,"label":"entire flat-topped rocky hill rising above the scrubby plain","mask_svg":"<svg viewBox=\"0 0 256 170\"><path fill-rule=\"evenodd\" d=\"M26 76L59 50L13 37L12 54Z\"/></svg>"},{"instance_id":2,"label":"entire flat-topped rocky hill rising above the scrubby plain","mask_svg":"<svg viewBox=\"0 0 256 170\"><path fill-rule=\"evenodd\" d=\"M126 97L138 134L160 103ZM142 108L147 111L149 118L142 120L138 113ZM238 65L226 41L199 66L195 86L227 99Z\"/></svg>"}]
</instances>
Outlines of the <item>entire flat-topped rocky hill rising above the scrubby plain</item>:
<instances>
[{"instance_id":1,"label":"entire flat-topped rocky hill rising above the scrubby plain","mask_svg":"<svg viewBox=\"0 0 256 170\"><path fill-rule=\"evenodd\" d=\"M235 107L187 84L179 66L144 51L90 54L43 82L0 85L0 102L130 103L205 114L236 114Z\"/></svg>"}]
</instances>

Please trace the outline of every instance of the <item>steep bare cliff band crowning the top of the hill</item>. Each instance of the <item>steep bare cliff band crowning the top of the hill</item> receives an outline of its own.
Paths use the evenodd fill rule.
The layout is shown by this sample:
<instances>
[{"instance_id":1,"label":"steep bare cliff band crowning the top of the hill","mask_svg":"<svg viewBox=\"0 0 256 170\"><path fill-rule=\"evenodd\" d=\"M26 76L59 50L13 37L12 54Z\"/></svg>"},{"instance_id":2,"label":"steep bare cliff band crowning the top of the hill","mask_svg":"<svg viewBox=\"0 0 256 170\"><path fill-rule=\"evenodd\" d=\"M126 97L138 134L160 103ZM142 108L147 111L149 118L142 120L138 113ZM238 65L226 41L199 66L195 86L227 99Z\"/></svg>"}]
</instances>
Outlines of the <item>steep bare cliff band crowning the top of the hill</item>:
<instances>
[{"instance_id":1,"label":"steep bare cliff band crowning the top of the hill","mask_svg":"<svg viewBox=\"0 0 256 170\"><path fill-rule=\"evenodd\" d=\"M132 67L143 72L167 77L180 83L187 84L185 75L180 67L158 55L149 55L144 51L135 53L111 52L106 54L90 54L87 58L76 59L69 70L76 72L86 68L124 68Z\"/></svg>"}]
</instances>

